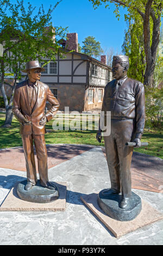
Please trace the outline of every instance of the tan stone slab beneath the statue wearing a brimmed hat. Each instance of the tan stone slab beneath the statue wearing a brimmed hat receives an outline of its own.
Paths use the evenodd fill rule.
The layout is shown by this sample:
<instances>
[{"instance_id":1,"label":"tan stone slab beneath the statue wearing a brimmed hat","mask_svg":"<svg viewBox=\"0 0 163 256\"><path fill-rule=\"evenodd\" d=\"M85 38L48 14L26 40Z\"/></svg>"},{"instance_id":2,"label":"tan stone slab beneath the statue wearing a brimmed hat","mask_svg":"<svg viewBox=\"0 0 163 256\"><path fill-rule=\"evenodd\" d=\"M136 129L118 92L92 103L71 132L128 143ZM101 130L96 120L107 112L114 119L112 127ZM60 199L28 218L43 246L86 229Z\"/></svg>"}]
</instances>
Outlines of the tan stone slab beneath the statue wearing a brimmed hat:
<instances>
[{"instance_id":1,"label":"tan stone slab beneath the statue wearing a brimmed hat","mask_svg":"<svg viewBox=\"0 0 163 256\"><path fill-rule=\"evenodd\" d=\"M65 211L66 182L55 182L59 190L59 198L51 203L31 203L20 199L17 195L18 182L11 188L8 196L0 206L0 211Z\"/></svg>"}]
</instances>

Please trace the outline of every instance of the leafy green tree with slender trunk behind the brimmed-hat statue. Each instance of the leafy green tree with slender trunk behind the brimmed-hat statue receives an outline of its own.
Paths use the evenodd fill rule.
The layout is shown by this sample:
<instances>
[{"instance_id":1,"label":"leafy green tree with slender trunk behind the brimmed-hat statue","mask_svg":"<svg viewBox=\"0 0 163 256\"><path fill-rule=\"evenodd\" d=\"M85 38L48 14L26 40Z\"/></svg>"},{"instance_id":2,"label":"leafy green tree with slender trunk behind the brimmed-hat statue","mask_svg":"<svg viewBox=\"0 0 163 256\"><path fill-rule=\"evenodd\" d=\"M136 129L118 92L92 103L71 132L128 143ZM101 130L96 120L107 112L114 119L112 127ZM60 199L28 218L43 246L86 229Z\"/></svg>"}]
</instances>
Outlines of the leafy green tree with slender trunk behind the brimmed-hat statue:
<instances>
[{"instance_id":1,"label":"leafy green tree with slender trunk behind the brimmed-hat statue","mask_svg":"<svg viewBox=\"0 0 163 256\"><path fill-rule=\"evenodd\" d=\"M50 6L47 13L41 6L34 15L35 7L30 3L25 9L23 1L17 0L17 4L12 4L10 0L0 1L0 44L3 44L3 56L0 57L0 88L6 109L3 127L11 126L13 94L24 64L34 59L55 60L56 54L61 54L57 36L64 37L65 29L53 28L51 23L52 12L57 5L58 3L54 7ZM4 90L5 72L8 70L14 73L14 86L9 101Z\"/></svg>"}]
</instances>

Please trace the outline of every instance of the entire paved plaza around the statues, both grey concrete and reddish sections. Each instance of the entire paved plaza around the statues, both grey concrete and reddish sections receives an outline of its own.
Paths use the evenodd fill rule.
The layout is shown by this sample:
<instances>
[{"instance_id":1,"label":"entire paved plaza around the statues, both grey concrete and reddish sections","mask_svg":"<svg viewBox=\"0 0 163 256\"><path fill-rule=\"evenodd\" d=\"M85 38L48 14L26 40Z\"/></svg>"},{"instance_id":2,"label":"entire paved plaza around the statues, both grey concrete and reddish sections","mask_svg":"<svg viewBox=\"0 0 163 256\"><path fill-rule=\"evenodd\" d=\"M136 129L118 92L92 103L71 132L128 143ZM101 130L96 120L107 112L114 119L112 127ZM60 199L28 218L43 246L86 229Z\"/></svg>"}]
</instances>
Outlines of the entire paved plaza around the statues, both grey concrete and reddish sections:
<instances>
[{"instance_id":1,"label":"entire paved plaza around the statues, both grey concrete and reddish sections","mask_svg":"<svg viewBox=\"0 0 163 256\"><path fill-rule=\"evenodd\" d=\"M0 150L0 205L17 181L26 178L23 167L17 170L11 163L20 159L16 151L10 166L2 167L12 150ZM49 180L66 181L65 212L0 212L0 245L162 245L163 221L137 229L116 239L108 229L82 203L83 194L97 193L110 187L104 148L89 145L47 145L49 155ZM54 154L55 153L55 154ZM147 185L148 190L163 190L162 160L135 153L132 175L136 175L137 188ZM10 154L11 155L11 154ZM52 162L58 159L58 162ZM6 159L9 159L6 157ZM138 159L139 161L136 161ZM3 161L2 161L3 160ZM51 163L50 163L51 162ZM22 166L24 161L21 161ZM136 165L137 164L137 165ZM9 168L10 167L10 168ZM156 175L153 175L156 174ZM143 176L146 178L143 180ZM133 179L134 180L134 179ZM156 186L153 188L153 184ZM140 181L140 182L139 182ZM146 181L146 182L145 182ZM136 185L137 182L137 185ZM151 186L152 185L152 186ZM143 200L163 212L163 193L133 189ZM143 187L142 187L143 188Z\"/></svg>"}]
</instances>

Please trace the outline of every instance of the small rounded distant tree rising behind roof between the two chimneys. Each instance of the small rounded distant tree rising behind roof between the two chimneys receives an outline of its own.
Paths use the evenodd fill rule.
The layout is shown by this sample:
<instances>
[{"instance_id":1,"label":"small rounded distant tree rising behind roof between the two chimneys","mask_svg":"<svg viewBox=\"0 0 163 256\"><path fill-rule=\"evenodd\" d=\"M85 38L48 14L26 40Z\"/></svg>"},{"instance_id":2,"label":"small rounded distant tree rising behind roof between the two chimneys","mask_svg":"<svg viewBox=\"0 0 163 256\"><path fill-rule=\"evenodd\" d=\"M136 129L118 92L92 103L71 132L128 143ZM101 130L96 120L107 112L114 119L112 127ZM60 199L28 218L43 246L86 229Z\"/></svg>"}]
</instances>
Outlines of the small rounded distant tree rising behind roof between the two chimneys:
<instances>
[{"instance_id":1,"label":"small rounded distant tree rising behind roof between the two chimneys","mask_svg":"<svg viewBox=\"0 0 163 256\"><path fill-rule=\"evenodd\" d=\"M100 42L96 41L93 36L87 36L83 41L82 52L91 57L98 57L103 53L103 50Z\"/></svg>"}]
</instances>

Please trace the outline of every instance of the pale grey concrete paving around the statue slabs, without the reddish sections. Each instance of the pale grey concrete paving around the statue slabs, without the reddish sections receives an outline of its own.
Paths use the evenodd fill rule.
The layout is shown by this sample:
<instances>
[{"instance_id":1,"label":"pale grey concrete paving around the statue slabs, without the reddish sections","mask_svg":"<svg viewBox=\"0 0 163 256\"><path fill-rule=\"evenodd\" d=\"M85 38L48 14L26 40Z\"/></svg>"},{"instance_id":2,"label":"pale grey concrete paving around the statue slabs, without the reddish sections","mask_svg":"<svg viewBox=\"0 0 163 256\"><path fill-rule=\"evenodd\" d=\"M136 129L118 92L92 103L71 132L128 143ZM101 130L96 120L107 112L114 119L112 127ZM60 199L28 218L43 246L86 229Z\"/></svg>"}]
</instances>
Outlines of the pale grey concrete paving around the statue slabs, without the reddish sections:
<instances>
[{"instance_id":1,"label":"pale grey concrete paving around the statue slabs, without the reddish sections","mask_svg":"<svg viewBox=\"0 0 163 256\"><path fill-rule=\"evenodd\" d=\"M99 165L100 159L100 165ZM52 167L49 181L67 182L65 211L0 211L0 245L163 245L163 221L116 238L80 197L110 187L106 159L99 147ZM0 168L0 205L26 172ZM163 194L135 190L163 214Z\"/></svg>"}]
</instances>

